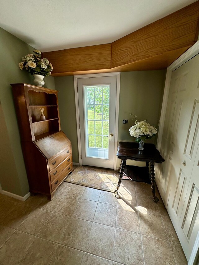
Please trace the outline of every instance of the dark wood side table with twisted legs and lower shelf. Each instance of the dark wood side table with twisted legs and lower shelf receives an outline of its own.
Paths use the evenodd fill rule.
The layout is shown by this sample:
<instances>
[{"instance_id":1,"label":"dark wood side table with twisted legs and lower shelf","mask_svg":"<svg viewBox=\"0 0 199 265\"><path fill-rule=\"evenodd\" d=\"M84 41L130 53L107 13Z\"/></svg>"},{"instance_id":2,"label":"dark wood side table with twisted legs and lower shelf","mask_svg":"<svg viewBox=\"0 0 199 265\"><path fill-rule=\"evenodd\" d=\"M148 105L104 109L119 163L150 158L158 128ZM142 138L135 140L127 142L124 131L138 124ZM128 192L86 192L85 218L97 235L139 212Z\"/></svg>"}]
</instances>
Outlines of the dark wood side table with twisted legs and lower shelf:
<instances>
[{"instance_id":1,"label":"dark wood side table with twisted legs and lower shelf","mask_svg":"<svg viewBox=\"0 0 199 265\"><path fill-rule=\"evenodd\" d=\"M153 200L157 203L159 199L155 196L154 163L162 163L164 162L164 158L160 155L160 152L155 148L154 144L144 144L144 150L142 151L138 149L138 146L138 143L119 142L117 157L121 159L121 164L118 187L114 191L114 194L117 197L124 175L124 177L128 176L125 179L151 184ZM144 161L146 162L146 167L128 166L126 165L127 159Z\"/></svg>"}]
</instances>

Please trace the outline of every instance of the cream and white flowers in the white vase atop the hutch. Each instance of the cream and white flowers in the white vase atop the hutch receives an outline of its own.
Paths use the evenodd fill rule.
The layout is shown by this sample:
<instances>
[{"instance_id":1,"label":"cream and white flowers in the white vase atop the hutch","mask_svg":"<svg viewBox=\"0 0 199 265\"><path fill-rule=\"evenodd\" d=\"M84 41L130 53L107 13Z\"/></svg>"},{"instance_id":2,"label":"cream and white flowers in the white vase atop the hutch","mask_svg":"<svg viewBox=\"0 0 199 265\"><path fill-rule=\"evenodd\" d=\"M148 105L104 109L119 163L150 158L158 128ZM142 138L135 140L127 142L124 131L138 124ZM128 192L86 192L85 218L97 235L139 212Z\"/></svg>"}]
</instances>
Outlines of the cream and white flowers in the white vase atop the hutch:
<instances>
[{"instance_id":1,"label":"cream and white flowers in the white vase atop the hutch","mask_svg":"<svg viewBox=\"0 0 199 265\"><path fill-rule=\"evenodd\" d=\"M25 69L31 75L51 75L53 71L53 66L47 58L41 58L41 52L39 50L33 51L35 54L27 54L22 57L22 61L19 63L19 68L21 70Z\"/></svg>"}]
</instances>

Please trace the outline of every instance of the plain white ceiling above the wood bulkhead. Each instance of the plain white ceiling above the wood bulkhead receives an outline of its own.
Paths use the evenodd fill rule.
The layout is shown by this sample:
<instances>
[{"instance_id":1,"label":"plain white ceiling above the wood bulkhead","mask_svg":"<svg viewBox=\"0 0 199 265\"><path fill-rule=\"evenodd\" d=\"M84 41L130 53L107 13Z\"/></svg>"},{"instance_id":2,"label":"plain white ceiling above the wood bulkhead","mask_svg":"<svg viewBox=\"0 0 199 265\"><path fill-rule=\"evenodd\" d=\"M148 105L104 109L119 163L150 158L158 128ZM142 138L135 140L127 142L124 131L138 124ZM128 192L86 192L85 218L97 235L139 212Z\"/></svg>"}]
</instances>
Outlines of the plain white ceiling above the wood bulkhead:
<instances>
[{"instance_id":1,"label":"plain white ceiling above the wood bulkhead","mask_svg":"<svg viewBox=\"0 0 199 265\"><path fill-rule=\"evenodd\" d=\"M0 27L42 52L110 43L195 0L0 0Z\"/></svg>"}]
</instances>

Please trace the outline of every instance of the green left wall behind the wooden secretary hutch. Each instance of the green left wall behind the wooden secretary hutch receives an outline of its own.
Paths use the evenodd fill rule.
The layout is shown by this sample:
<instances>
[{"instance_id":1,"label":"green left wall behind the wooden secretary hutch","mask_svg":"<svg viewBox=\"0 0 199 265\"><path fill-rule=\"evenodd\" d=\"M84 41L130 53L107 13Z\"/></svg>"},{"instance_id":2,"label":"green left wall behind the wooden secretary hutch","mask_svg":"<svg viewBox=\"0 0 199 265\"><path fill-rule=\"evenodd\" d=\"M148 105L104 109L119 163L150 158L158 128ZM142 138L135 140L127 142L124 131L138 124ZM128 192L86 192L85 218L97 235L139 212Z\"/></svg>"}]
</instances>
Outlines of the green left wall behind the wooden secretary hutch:
<instances>
[{"instance_id":1,"label":"green left wall behind the wooden secretary hutch","mask_svg":"<svg viewBox=\"0 0 199 265\"><path fill-rule=\"evenodd\" d=\"M29 192L29 185L10 84L33 84L33 76L21 71L18 63L34 49L0 28L0 184L3 190L20 196ZM44 81L46 86L55 89L53 77L45 77Z\"/></svg>"}]
</instances>

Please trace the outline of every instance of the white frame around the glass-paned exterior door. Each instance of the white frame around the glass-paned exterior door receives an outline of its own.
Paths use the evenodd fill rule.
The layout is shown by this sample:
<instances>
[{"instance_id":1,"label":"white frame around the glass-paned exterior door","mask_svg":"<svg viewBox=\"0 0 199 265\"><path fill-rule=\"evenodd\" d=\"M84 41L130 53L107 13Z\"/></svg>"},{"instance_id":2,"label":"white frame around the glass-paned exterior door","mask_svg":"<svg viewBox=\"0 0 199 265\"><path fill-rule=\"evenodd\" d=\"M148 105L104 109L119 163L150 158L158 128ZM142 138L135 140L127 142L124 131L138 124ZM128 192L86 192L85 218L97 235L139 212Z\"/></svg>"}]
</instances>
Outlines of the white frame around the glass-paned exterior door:
<instances>
[{"instance_id":1,"label":"white frame around the glass-paned exterior door","mask_svg":"<svg viewBox=\"0 0 199 265\"><path fill-rule=\"evenodd\" d=\"M79 117L79 104L78 104L78 92L77 92L77 79L78 78L92 78L92 77L105 77L105 76L117 76L116 85L116 109L115 109L115 143L114 143L114 170L117 170L117 157L118 150L118 118L119 118L119 90L120 90L120 72L103 73L103 74L88 74L88 75L74 75L74 90L75 90L75 108L76 108L76 122L77 122L77 141L79 152L79 165L82 166L81 160L81 138L80 138L80 117ZM74 163L73 163L74 164Z\"/></svg>"}]
</instances>

